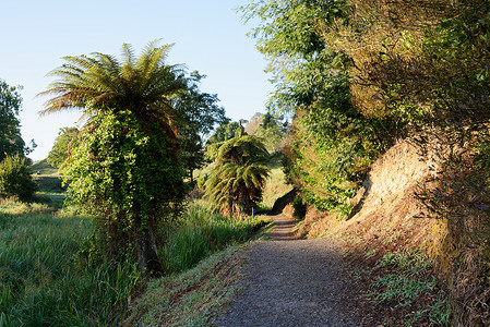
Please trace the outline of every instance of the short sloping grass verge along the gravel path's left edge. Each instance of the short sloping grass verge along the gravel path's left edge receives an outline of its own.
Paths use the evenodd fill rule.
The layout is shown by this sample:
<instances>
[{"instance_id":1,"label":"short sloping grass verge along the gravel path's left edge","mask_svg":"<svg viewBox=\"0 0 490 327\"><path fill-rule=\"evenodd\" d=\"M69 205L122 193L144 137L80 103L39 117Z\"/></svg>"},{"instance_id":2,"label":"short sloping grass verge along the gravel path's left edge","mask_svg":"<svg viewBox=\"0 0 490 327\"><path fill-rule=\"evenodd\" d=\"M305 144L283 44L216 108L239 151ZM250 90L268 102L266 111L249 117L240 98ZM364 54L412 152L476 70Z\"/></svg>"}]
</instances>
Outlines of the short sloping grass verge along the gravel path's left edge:
<instances>
[{"instance_id":1,"label":"short sloping grass verge along the gravel path's left edge","mask_svg":"<svg viewBox=\"0 0 490 327\"><path fill-rule=\"evenodd\" d=\"M211 317L240 291L239 255L244 246L230 246L180 275L151 281L131 305L122 326L206 326Z\"/></svg>"}]
</instances>

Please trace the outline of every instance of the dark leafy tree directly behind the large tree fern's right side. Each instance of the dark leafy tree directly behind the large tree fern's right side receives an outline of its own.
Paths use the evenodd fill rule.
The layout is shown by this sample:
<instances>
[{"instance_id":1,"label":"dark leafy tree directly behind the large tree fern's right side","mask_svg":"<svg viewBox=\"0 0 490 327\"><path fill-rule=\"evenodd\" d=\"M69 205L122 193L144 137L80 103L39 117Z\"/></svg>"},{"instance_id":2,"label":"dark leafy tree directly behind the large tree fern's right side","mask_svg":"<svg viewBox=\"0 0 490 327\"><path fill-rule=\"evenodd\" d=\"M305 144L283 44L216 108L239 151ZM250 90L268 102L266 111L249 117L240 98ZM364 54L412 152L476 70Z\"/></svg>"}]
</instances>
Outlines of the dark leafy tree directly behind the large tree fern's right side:
<instances>
[{"instance_id":1,"label":"dark leafy tree directly behind the large tree fern's right side","mask_svg":"<svg viewBox=\"0 0 490 327\"><path fill-rule=\"evenodd\" d=\"M192 172L204 166L204 140L215 124L226 123L225 109L216 105L218 97L202 93L199 83L205 76L191 73L188 90L175 100L178 117L179 143L182 166L192 182Z\"/></svg>"}]
</instances>

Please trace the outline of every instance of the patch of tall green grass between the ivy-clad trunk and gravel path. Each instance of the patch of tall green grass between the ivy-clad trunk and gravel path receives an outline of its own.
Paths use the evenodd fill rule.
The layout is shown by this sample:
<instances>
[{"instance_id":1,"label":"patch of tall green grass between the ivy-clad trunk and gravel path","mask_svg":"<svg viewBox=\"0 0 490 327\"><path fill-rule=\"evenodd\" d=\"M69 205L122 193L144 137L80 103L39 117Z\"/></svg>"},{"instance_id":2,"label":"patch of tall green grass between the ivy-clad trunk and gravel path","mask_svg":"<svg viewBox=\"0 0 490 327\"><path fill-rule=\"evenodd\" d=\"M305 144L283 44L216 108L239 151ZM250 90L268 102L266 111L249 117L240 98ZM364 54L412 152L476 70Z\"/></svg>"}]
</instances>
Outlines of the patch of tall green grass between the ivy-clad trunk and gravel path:
<instances>
[{"instance_id":1,"label":"patch of tall green grass between the ivy-clad trunk and gravel path","mask_svg":"<svg viewBox=\"0 0 490 327\"><path fill-rule=\"evenodd\" d=\"M164 231L166 243L160 254L166 270L180 272L190 269L229 244L246 242L266 223L263 219L238 221L202 206L190 205L187 215Z\"/></svg>"}]
</instances>

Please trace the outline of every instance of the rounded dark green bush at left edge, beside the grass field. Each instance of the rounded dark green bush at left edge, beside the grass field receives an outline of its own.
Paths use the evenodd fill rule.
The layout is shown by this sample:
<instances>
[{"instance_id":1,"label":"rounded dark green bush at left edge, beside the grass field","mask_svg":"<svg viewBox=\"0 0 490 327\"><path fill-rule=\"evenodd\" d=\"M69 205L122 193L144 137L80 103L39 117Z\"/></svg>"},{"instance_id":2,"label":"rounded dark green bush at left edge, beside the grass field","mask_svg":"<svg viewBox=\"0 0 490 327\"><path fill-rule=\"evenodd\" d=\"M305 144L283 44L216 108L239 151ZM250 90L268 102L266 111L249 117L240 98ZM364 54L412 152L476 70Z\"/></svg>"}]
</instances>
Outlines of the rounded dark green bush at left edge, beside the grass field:
<instances>
[{"instance_id":1,"label":"rounded dark green bush at left edge, beside the grass field","mask_svg":"<svg viewBox=\"0 0 490 327\"><path fill-rule=\"evenodd\" d=\"M5 157L0 162L0 197L15 196L23 202L29 202L37 190L31 175L27 160L20 155Z\"/></svg>"}]
</instances>

